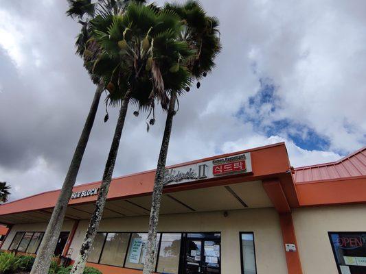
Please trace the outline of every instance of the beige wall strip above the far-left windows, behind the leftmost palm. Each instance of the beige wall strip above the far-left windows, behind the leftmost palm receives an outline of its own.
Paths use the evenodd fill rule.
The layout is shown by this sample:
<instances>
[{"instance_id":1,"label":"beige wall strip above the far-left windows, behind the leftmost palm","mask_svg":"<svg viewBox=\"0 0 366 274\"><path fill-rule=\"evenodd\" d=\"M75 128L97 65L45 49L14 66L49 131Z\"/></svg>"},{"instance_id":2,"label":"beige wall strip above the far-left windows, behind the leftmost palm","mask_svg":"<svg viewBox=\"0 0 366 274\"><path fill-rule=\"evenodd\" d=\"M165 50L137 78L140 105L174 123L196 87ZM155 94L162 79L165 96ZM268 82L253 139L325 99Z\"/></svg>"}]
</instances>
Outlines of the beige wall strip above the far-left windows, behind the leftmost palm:
<instances>
[{"instance_id":1,"label":"beige wall strip above the far-left windows, behind the leftmost palm","mask_svg":"<svg viewBox=\"0 0 366 274\"><path fill-rule=\"evenodd\" d=\"M73 227L73 221L65 221L62 225L62 232L70 232ZM5 238L1 249L8 249L16 232L44 232L47 228L47 223L27 223L20 225L13 225L8 236Z\"/></svg>"}]
</instances>

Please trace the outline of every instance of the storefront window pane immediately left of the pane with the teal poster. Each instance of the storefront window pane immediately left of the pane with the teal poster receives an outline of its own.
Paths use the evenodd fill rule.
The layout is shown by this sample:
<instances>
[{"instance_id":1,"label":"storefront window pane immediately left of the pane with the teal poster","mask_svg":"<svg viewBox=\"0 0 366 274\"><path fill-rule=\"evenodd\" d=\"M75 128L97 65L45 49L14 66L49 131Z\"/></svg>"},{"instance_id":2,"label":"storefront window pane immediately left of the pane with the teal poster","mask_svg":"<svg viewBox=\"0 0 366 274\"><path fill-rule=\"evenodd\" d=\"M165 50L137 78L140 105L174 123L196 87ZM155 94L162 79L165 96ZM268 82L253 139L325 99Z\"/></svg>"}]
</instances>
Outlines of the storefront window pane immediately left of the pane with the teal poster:
<instances>
[{"instance_id":1,"label":"storefront window pane immediately left of the pane with the teal poster","mask_svg":"<svg viewBox=\"0 0 366 274\"><path fill-rule=\"evenodd\" d=\"M123 266L129 238L129 233L108 233L100 263Z\"/></svg>"}]
</instances>

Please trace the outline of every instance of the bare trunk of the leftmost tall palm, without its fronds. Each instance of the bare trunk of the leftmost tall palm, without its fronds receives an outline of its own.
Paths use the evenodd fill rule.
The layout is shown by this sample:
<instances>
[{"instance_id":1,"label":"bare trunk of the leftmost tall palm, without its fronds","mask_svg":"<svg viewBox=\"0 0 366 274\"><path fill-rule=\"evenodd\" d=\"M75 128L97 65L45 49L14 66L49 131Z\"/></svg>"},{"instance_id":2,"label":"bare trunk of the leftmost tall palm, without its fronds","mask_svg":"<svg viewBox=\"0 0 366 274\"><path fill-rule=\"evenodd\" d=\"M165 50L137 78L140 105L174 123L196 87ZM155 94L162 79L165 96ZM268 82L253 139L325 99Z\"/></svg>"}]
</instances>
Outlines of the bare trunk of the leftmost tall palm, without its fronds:
<instances>
[{"instance_id":1,"label":"bare trunk of the leftmost tall palm, without its fronds","mask_svg":"<svg viewBox=\"0 0 366 274\"><path fill-rule=\"evenodd\" d=\"M100 96L104 90L104 85L98 84L95 90L93 103L89 110L87 116L87 121L85 121L84 128L79 138L78 145L76 146L75 152L73 153L73 158L71 160L69 170L65 177L64 184L62 185L60 196L58 197L54 211L52 212L51 219L47 225L45 235L41 242L41 246L38 249L36 260L34 261L31 274L45 274L48 273L49 265L51 264L52 256L56 248L58 237L60 236L60 230L62 223L65 218L65 213L67 210L67 204L71 198L73 185L76 182L76 177L80 168L82 161L82 156L84 155L85 148L89 140L91 129L93 128L93 123L95 119L95 114L98 110L98 105L100 101Z\"/></svg>"}]
</instances>

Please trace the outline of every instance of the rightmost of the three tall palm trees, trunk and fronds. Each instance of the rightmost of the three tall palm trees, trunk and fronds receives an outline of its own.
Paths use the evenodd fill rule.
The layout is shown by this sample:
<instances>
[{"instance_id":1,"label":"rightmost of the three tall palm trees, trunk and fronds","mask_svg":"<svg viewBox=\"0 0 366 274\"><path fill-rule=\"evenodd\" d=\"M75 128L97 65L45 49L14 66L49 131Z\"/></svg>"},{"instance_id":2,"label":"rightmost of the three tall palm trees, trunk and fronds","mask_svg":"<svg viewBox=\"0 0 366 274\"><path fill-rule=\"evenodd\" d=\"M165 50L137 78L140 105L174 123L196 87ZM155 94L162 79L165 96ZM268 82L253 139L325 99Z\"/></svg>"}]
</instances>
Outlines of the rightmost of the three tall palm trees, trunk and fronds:
<instances>
[{"instance_id":1,"label":"rightmost of the three tall palm trees, trunk and fronds","mask_svg":"<svg viewBox=\"0 0 366 274\"><path fill-rule=\"evenodd\" d=\"M196 52L194 60L187 59L184 64L192 73L192 77L200 79L205 77L207 72L214 68L214 58L220 52L220 40L218 37L218 19L206 16L205 11L196 1L188 1L184 5L166 4L165 9L172 10L179 15L185 25L181 32L181 40L187 42L190 49ZM197 82L197 88L201 86ZM186 88L188 91L189 88ZM146 257L144 264L144 274L152 273L155 260L155 247L157 238L157 225L159 223L159 210L161 204L161 195L163 193L163 178L165 173L165 163L168 154L170 134L172 132L173 117L176 114L175 102L177 95L183 94L181 90L172 90L170 92L170 104L168 108L167 119L159 160L157 162L157 171L155 173L155 182L152 192L152 206L150 211L150 222L148 232L148 242L146 244Z\"/></svg>"}]
</instances>

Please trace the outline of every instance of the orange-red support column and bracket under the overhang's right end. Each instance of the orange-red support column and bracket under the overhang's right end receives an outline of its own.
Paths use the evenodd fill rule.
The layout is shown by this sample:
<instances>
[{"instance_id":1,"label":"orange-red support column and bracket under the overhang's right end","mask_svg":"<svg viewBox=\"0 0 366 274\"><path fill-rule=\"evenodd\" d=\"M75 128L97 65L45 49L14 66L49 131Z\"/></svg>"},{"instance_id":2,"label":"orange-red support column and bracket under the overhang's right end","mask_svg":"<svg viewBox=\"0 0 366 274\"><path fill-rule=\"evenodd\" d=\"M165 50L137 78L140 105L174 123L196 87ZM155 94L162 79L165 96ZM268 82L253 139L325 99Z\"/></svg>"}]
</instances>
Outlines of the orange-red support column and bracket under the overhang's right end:
<instances>
[{"instance_id":1,"label":"orange-red support column and bracket under the overhang's right end","mask_svg":"<svg viewBox=\"0 0 366 274\"><path fill-rule=\"evenodd\" d=\"M281 182L279 182L279 179L269 179L263 181L263 188L266 190L269 199L271 199L279 215L279 225L281 226L282 239L284 241L288 274L302 274L291 208L288 205ZM294 244L296 251L286 251L286 244Z\"/></svg>"}]
</instances>

